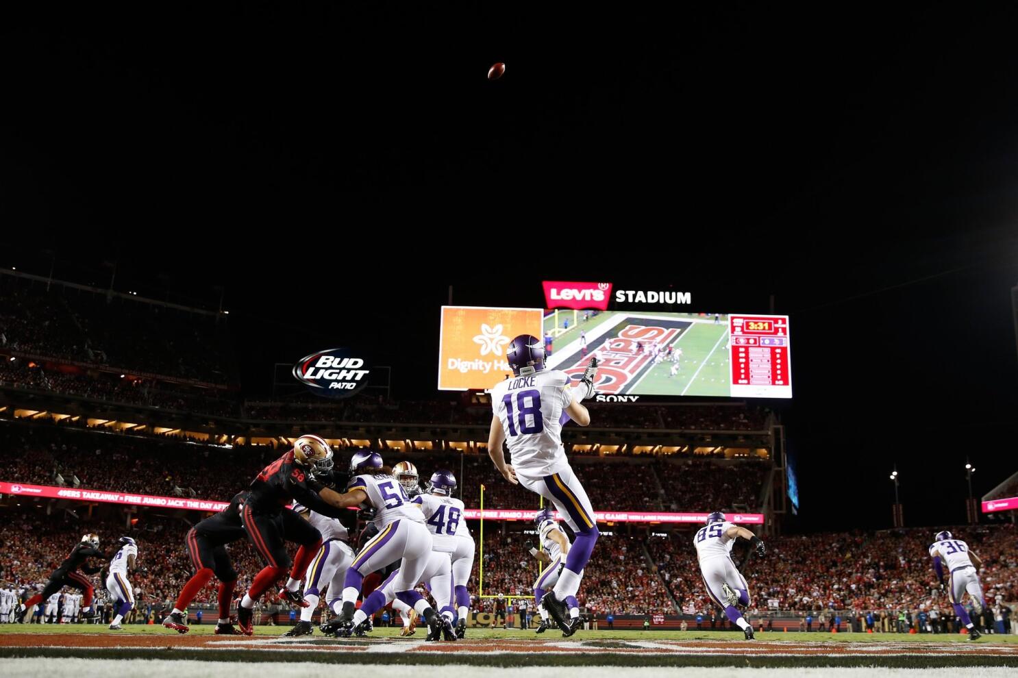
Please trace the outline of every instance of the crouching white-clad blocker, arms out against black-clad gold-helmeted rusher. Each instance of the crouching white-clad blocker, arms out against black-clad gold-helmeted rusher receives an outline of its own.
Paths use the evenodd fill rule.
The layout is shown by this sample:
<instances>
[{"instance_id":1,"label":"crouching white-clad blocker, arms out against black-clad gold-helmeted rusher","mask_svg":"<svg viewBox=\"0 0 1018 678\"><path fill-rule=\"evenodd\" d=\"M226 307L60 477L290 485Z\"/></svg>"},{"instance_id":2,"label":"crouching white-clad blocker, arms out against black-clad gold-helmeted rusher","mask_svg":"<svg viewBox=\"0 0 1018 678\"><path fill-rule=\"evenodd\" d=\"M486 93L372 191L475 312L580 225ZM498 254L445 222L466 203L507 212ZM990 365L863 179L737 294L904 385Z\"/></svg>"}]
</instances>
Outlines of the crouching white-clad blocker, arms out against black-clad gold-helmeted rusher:
<instances>
[{"instance_id":1,"label":"crouching white-clad blocker, arms out against black-clad gold-helmeted rusher","mask_svg":"<svg viewBox=\"0 0 1018 678\"><path fill-rule=\"evenodd\" d=\"M347 569L342 610L334 620L322 625L322 632L349 633L381 610L386 601L381 589L373 591L359 610L355 610L355 603L364 575L394 560L400 560L400 567L387 582L391 584L392 595L416 610L432 633L444 630L442 617L414 590L432 553L432 534L425 527L420 511L410 503L403 486L393 477L392 469L383 465L378 453L356 452L350 459L350 475L352 479L346 493L338 495L326 491L329 494L323 494L322 498L337 508L374 509L373 523L379 533L364 545Z\"/></svg>"}]
</instances>

